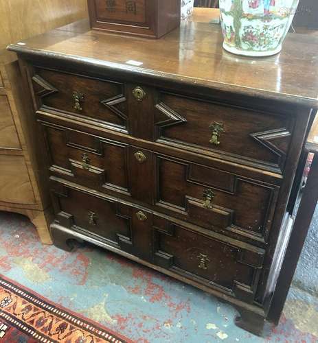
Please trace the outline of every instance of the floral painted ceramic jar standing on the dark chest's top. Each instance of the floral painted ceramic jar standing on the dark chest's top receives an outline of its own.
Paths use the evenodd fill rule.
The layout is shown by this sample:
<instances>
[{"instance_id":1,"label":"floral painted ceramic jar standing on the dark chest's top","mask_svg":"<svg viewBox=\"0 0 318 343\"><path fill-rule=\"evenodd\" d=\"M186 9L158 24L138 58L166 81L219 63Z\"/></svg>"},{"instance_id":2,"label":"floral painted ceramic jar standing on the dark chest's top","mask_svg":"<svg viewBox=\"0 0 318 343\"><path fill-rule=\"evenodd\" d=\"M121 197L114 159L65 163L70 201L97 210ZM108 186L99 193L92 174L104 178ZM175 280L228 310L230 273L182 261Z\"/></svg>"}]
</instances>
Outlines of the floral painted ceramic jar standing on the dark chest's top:
<instances>
[{"instance_id":1,"label":"floral painted ceramic jar standing on the dark chest's top","mask_svg":"<svg viewBox=\"0 0 318 343\"><path fill-rule=\"evenodd\" d=\"M271 56L295 16L299 0L220 0L225 50L245 56Z\"/></svg>"}]
</instances>

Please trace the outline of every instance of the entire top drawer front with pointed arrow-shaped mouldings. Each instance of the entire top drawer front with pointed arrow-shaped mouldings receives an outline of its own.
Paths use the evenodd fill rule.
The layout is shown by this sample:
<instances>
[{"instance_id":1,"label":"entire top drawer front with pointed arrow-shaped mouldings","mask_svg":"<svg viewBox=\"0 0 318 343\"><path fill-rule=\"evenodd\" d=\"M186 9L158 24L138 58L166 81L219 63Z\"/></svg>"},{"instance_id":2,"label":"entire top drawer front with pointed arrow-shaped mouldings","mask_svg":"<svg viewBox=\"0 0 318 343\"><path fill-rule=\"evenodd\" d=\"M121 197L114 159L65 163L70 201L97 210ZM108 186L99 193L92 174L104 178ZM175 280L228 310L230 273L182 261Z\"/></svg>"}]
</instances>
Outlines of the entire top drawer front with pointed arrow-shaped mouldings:
<instances>
[{"instance_id":1,"label":"entire top drawer front with pointed arrow-shaped mouldings","mask_svg":"<svg viewBox=\"0 0 318 343\"><path fill-rule=\"evenodd\" d=\"M144 84L38 67L32 80L41 110L185 152L284 172L293 115L262 113Z\"/></svg>"}]
</instances>

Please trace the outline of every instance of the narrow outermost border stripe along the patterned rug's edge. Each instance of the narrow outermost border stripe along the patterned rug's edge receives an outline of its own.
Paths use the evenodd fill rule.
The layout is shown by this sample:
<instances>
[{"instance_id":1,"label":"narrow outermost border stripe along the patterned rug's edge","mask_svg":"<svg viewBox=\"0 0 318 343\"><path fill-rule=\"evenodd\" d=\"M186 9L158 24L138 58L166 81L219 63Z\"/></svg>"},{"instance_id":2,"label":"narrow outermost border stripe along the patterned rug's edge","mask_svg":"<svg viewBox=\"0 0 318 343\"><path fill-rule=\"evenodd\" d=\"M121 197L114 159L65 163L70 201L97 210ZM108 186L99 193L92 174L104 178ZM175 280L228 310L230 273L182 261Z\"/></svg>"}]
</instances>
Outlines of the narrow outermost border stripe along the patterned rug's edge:
<instances>
[{"instance_id":1,"label":"narrow outermost border stripe along the patterned rug's edge","mask_svg":"<svg viewBox=\"0 0 318 343\"><path fill-rule=\"evenodd\" d=\"M10 287L3 285L3 283L8 283L8 285L10 285L11 287L15 287L16 289L11 289ZM102 324L95 322L94 320L85 318L84 316L77 314L76 312L73 312L70 309L67 309L61 305L58 305L57 303L54 303L54 301L49 300L45 298L44 296L41 296L37 292L34 292L32 289L25 287L21 285L20 283L3 276L2 274L0 274L0 285L3 287L7 287L15 294L18 294L19 296L27 299L28 301L34 303L36 306L41 307L43 310L54 314L54 316L59 316L63 320L67 320L67 319L61 316L60 314L57 314L56 311L60 310L60 311L65 311L66 314L71 314L74 320L67 320L70 324L76 324L76 321L81 322L82 324L81 326L84 327L84 329L87 329L94 335L100 336L100 338L102 339L104 338L109 339L109 340L114 339L113 340L114 343L133 343L132 340L125 338L119 333L115 333L113 330L109 329L108 327L103 327ZM30 294L27 294L25 292L29 292ZM95 328L92 326L94 326ZM102 335L102 333L106 333L106 335ZM107 338L107 335L111 337Z\"/></svg>"}]
</instances>

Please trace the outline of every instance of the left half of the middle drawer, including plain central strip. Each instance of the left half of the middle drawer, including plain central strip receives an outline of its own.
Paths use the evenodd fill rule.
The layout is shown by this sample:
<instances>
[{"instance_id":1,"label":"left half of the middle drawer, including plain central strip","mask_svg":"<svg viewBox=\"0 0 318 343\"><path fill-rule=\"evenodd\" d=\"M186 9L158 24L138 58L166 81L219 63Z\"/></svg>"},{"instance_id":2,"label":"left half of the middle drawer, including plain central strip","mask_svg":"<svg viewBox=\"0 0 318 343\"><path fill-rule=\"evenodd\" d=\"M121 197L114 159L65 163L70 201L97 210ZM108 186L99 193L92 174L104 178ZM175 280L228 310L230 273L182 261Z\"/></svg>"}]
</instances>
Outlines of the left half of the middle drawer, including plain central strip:
<instances>
[{"instance_id":1,"label":"left half of the middle drawer, including plain central strip","mask_svg":"<svg viewBox=\"0 0 318 343\"><path fill-rule=\"evenodd\" d=\"M152 154L139 165L138 148L53 123L41 122L49 169L63 178L102 192L152 204Z\"/></svg>"}]
</instances>

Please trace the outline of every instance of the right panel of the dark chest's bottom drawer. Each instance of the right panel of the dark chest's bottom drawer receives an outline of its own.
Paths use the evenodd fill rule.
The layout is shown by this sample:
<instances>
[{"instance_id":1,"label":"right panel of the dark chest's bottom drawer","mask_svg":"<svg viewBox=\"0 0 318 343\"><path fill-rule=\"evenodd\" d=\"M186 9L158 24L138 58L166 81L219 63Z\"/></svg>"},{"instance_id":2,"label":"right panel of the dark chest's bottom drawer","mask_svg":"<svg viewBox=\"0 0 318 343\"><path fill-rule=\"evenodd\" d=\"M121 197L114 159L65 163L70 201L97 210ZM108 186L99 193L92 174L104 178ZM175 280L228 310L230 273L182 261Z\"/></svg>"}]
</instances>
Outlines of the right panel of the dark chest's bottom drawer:
<instances>
[{"instance_id":1,"label":"right panel of the dark chest's bottom drawer","mask_svg":"<svg viewBox=\"0 0 318 343\"><path fill-rule=\"evenodd\" d=\"M264 250L154 215L155 263L252 302ZM238 245L236 245L238 244Z\"/></svg>"}]
</instances>

